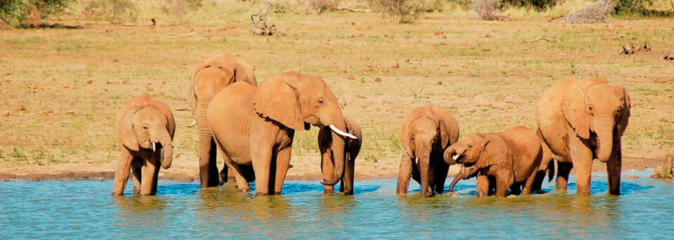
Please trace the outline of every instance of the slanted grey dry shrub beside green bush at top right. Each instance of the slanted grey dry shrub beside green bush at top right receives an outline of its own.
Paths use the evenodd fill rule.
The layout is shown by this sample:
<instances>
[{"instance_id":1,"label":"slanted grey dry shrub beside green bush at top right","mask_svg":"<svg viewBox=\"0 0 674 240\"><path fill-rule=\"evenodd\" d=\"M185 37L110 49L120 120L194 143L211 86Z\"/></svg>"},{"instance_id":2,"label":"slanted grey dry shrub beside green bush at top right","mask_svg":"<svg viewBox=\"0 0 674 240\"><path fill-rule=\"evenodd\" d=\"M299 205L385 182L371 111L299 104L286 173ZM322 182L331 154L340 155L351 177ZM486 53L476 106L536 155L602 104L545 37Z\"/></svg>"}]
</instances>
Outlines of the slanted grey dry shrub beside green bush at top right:
<instances>
[{"instance_id":1,"label":"slanted grey dry shrub beside green bush at top right","mask_svg":"<svg viewBox=\"0 0 674 240\"><path fill-rule=\"evenodd\" d=\"M616 2L612 0L595 1L579 10L569 13L564 16L561 22L571 23L590 23L590 22L606 22L609 15L616 8Z\"/></svg>"}]
</instances>

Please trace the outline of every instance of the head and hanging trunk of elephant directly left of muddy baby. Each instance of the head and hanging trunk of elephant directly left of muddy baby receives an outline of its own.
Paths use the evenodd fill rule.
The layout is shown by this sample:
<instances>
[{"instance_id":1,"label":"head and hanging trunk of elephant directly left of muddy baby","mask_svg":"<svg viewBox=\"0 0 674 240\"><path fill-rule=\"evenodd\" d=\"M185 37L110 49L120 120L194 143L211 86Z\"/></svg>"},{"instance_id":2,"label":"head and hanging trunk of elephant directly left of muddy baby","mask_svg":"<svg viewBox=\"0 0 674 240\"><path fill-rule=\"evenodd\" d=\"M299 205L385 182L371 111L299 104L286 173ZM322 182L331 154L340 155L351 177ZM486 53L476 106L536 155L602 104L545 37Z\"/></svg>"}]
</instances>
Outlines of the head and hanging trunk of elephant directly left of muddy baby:
<instances>
[{"instance_id":1,"label":"head and hanging trunk of elephant directly left of muddy baby","mask_svg":"<svg viewBox=\"0 0 674 240\"><path fill-rule=\"evenodd\" d=\"M400 142L410 159L419 166L422 198L425 198L430 185L430 154L442 151L449 144L446 124L431 105L426 105L407 114L400 128Z\"/></svg>"}]
</instances>

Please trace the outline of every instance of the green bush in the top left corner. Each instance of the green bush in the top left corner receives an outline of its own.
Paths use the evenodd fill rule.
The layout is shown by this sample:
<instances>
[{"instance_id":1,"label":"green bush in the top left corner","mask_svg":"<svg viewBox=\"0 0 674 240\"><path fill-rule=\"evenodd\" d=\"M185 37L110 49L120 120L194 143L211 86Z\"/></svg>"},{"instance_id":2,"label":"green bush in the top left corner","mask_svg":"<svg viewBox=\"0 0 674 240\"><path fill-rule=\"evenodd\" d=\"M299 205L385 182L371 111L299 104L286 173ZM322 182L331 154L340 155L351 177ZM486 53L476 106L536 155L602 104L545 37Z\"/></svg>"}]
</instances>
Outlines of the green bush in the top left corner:
<instances>
[{"instance_id":1,"label":"green bush in the top left corner","mask_svg":"<svg viewBox=\"0 0 674 240\"><path fill-rule=\"evenodd\" d=\"M38 26L65 11L71 0L2 0L0 27Z\"/></svg>"}]
</instances>

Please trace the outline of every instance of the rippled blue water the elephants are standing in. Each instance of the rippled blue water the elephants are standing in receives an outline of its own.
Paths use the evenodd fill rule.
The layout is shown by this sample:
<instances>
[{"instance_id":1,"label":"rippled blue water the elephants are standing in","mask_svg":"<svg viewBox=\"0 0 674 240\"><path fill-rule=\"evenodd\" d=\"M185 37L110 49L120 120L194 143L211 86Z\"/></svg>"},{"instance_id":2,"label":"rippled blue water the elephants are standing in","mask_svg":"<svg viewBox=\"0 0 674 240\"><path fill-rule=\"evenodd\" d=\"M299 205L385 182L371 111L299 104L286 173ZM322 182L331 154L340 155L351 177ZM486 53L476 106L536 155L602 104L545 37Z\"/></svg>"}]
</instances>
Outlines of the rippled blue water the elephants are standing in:
<instances>
[{"instance_id":1,"label":"rippled blue water the elephants are standing in","mask_svg":"<svg viewBox=\"0 0 674 240\"><path fill-rule=\"evenodd\" d=\"M607 196L604 175L592 196L551 191L475 197L475 180L458 195L419 199L418 185L395 195L395 180L355 182L355 195L324 195L319 181L286 181L282 196L233 187L160 181L157 196L112 197L112 181L0 182L0 239L669 239L674 182L626 172L621 196ZM448 179L447 185L449 185ZM573 178L569 182L575 182ZM131 187L127 193L131 192Z\"/></svg>"}]
</instances>

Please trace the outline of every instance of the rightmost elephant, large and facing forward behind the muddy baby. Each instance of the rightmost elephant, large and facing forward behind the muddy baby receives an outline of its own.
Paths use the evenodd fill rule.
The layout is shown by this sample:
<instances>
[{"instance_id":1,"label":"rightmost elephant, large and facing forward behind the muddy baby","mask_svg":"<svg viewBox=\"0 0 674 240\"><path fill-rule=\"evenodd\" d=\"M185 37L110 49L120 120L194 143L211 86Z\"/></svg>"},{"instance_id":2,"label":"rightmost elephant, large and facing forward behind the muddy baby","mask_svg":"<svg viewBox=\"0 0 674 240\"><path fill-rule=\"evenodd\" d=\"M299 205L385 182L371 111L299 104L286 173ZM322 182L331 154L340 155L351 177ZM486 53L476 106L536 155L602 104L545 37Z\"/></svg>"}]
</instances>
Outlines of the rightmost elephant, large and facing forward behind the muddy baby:
<instances>
[{"instance_id":1,"label":"rightmost elephant, large and facing forward behind the muddy baby","mask_svg":"<svg viewBox=\"0 0 674 240\"><path fill-rule=\"evenodd\" d=\"M549 156L543 164L557 160L556 189L566 191L575 166L577 194L589 195L592 161L599 159L607 166L609 194L620 194L621 137L630 107L626 88L599 77L564 79L541 95L536 103L537 132Z\"/></svg>"}]
</instances>

